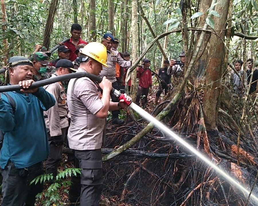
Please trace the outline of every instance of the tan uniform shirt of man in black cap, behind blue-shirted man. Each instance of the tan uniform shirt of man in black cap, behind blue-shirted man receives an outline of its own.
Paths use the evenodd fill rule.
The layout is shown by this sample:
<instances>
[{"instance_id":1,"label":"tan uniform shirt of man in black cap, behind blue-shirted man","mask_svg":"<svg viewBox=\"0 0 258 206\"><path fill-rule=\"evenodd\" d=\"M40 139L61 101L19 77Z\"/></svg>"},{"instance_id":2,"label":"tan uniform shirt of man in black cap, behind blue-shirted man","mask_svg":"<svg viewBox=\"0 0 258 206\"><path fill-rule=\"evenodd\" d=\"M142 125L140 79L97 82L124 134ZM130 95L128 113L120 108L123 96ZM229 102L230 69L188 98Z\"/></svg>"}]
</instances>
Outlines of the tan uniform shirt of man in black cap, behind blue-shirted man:
<instances>
[{"instance_id":1,"label":"tan uniform shirt of man in black cap, behind blue-shirted man","mask_svg":"<svg viewBox=\"0 0 258 206\"><path fill-rule=\"evenodd\" d=\"M50 78L55 77L56 75L52 74ZM64 86L62 85L62 82L56 82L44 86L44 89L52 94L56 100L56 104L54 106L49 110L44 111L44 116L48 116L48 118L45 118L46 128L50 129L50 136L61 135L61 128L69 126L67 119L67 97L64 91Z\"/></svg>"}]
</instances>

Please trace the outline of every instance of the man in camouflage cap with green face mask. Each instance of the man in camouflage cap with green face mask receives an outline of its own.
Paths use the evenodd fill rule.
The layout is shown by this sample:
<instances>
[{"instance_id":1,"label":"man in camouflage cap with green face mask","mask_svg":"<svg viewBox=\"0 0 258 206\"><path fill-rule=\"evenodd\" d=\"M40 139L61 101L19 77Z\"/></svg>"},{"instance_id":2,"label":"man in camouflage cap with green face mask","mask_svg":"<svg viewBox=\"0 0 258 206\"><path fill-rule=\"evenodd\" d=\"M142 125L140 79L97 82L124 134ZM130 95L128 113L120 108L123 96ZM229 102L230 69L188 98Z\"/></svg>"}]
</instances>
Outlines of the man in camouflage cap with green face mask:
<instances>
[{"instance_id":1,"label":"man in camouflage cap with green face mask","mask_svg":"<svg viewBox=\"0 0 258 206\"><path fill-rule=\"evenodd\" d=\"M50 74L47 72L48 55L42 51L38 51L34 54L33 60L33 80L37 82L50 78Z\"/></svg>"}]
</instances>

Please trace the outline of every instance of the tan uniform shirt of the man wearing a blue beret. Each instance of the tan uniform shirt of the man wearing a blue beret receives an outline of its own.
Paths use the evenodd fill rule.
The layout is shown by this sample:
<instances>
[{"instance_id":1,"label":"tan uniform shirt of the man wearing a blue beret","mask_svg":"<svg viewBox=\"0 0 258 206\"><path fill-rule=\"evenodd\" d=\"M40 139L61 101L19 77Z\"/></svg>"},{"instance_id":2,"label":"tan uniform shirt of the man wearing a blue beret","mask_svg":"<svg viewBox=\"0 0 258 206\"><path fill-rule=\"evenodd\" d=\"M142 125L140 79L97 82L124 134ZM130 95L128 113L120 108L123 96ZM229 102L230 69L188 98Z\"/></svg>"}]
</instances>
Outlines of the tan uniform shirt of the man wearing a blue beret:
<instances>
[{"instance_id":1,"label":"tan uniform shirt of the man wearing a blue beret","mask_svg":"<svg viewBox=\"0 0 258 206\"><path fill-rule=\"evenodd\" d=\"M100 77L106 76L110 82L116 82L116 63L121 67L131 66L130 61L124 60L116 49L111 49L110 53L107 52L107 66L102 66L102 70L99 74Z\"/></svg>"}]
</instances>

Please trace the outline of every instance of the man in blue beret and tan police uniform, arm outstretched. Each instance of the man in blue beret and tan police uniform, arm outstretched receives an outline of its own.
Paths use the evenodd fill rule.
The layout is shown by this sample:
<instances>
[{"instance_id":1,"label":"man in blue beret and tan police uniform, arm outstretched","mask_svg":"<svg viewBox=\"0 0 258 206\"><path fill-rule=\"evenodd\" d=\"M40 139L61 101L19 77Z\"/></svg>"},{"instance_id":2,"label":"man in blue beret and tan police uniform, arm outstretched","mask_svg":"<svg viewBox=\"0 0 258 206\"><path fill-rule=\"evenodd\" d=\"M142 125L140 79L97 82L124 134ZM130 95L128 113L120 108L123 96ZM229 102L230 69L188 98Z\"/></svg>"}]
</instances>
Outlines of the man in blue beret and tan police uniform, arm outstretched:
<instances>
[{"instance_id":1,"label":"man in blue beret and tan police uniform, arm outstretched","mask_svg":"<svg viewBox=\"0 0 258 206\"><path fill-rule=\"evenodd\" d=\"M106 76L107 79L112 82L112 87L116 90L119 90L119 85L116 80L116 63L118 63L121 67L130 67L131 62L124 60L119 52L112 48L114 42L114 37L106 33L103 35L103 39L101 43L107 48L107 66L102 66L102 70L99 74L100 77ZM119 99L115 96L111 96L112 102L119 102ZM119 110L112 111L112 124L124 124L124 120L120 120L118 118Z\"/></svg>"}]
</instances>

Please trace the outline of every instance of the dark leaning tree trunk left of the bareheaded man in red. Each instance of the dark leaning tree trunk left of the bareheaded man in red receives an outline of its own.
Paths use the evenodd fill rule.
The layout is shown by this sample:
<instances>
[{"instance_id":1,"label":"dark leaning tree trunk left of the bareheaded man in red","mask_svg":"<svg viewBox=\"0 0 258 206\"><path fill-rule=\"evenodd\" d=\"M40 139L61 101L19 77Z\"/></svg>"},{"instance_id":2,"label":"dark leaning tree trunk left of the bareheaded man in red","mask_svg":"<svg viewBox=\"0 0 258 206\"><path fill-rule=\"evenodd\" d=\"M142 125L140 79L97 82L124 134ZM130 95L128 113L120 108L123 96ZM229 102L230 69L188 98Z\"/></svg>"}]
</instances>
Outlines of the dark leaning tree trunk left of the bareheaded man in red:
<instances>
[{"instance_id":1,"label":"dark leaning tree trunk left of the bareheaded man in red","mask_svg":"<svg viewBox=\"0 0 258 206\"><path fill-rule=\"evenodd\" d=\"M43 41L43 46L45 46L47 49L49 49L49 45L50 45L50 36L52 33L54 17L55 17L57 7L58 7L58 0L52 0L49 6L48 20L45 27L45 34L44 34L44 41Z\"/></svg>"}]
</instances>

